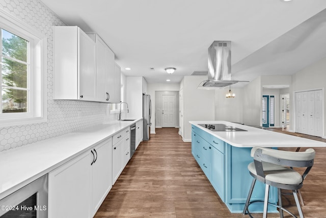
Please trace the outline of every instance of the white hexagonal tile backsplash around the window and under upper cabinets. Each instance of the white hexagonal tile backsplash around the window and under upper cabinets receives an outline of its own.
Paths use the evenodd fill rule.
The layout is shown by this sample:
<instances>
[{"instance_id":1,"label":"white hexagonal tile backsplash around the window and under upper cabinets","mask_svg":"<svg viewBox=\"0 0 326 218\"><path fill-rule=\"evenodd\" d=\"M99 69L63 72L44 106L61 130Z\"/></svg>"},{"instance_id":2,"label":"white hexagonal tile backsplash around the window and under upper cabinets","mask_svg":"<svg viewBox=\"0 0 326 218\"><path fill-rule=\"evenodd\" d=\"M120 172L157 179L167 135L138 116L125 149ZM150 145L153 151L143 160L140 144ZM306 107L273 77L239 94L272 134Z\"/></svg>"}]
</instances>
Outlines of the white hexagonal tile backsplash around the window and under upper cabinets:
<instances>
[{"instance_id":1,"label":"white hexagonal tile backsplash around the window and under upper cabinets","mask_svg":"<svg viewBox=\"0 0 326 218\"><path fill-rule=\"evenodd\" d=\"M52 26L65 26L37 0L0 0L0 7L47 36L47 122L0 129L0 152L110 122L110 104L53 100Z\"/></svg>"}]
</instances>

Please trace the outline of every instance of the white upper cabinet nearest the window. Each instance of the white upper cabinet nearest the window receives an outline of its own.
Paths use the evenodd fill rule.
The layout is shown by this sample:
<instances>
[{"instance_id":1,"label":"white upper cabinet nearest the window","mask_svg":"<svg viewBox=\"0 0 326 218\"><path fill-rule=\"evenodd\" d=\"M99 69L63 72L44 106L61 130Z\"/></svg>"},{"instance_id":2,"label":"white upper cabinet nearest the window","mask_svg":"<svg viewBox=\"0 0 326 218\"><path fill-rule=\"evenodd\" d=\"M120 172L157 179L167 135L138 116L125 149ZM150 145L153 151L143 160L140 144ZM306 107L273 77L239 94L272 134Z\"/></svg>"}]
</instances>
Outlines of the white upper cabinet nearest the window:
<instances>
[{"instance_id":1,"label":"white upper cabinet nearest the window","mask_svg":"<svg viewBox=\"0 0 326 218\"><path fill-rule=\"evenodd\" d=\"M54 27L53 99L95 101L95 43L78 27Z\"/></svg>"}]
</instances>

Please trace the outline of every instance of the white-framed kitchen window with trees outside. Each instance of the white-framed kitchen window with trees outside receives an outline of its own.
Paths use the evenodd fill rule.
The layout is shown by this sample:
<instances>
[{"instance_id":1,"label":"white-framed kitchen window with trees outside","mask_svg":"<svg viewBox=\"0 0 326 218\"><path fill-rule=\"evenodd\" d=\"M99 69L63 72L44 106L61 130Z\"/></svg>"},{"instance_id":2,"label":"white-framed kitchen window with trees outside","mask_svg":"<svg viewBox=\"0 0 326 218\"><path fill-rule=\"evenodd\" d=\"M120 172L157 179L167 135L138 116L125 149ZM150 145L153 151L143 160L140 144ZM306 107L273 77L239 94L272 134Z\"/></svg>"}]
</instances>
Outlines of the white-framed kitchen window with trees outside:
<instances>
[{"instance_id":1,"label":"white-framed kitchen window with trees outside","mask_svg":"<svg viewBox=\"0 0 326 218\"><path fill-rule=\"evenodd\" d=\"M46 121L46 38L0 12L0 127Z\"/></svg>"}]
</instances>

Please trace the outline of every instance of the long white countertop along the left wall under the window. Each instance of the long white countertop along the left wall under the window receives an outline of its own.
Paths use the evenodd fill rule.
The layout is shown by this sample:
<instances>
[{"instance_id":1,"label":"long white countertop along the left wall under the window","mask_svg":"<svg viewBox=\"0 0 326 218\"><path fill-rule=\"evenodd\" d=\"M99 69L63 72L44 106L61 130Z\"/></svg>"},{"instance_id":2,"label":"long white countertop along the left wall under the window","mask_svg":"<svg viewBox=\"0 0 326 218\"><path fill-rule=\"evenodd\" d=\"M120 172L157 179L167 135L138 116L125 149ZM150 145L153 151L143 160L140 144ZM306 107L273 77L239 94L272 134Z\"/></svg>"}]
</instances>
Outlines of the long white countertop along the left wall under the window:
<instances>
[{"instance_id":1,"label":"long white countertop along the left wall under the window","mask_svg":"<svg viewBox=\"0 0 326 218\"><path fill-rule=\"evenodd\" d=\"M117 120L0 152L0 199L141 119Z\"/></svg>"}]
</instances>

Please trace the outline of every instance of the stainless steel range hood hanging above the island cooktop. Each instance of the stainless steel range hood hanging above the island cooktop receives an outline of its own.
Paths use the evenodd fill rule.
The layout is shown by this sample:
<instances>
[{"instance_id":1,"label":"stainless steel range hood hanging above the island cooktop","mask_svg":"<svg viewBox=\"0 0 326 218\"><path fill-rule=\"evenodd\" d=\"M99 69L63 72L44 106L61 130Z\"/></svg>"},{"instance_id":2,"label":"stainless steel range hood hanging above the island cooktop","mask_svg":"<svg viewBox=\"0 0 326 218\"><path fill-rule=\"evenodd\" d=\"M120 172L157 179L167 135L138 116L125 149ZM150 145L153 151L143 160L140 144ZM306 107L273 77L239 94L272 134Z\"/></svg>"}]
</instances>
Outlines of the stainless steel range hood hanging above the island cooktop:
<instances>
[{"instance_id":1,"label":"stainless steel range hood hanging above the island cooktop","mask_svg":"<svg viewBox=\"0 0 326 218\"><path fill-rule=\"evenodd\" d=\"M208 48L208 80L198 88L222 88L237 82L249 81L231 80L231 41L213 41Z\"/></svg>"}]
</instances>

